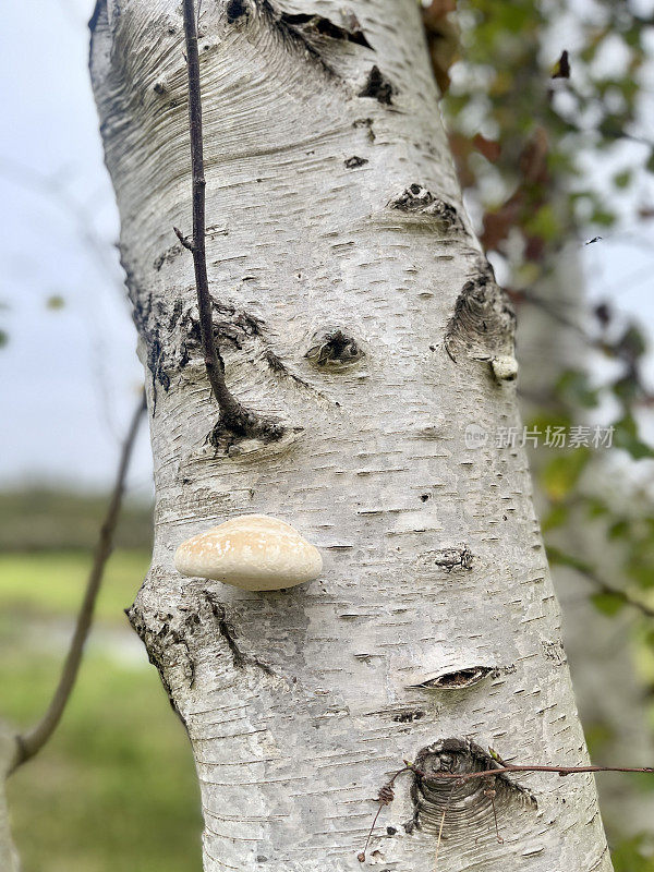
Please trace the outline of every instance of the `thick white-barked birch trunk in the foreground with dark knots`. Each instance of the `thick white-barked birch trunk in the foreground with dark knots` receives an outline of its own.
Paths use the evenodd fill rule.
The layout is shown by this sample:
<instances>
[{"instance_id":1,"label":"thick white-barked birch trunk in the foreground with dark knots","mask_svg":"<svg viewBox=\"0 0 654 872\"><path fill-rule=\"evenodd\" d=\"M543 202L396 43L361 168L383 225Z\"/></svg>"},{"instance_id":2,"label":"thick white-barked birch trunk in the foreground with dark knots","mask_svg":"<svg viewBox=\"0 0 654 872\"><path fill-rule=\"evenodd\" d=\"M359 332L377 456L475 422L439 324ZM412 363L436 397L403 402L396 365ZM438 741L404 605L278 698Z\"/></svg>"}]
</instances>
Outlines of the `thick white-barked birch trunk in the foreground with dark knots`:
<instances>
[{"instance_id":1,"label":"thick white-barked birch trunk in the foreground with dark knots","mask_svg":"<svg viewBox=\"0 0 654 872\"><path fill-rule=\"evenodd\" d=\"M216 427L172 234L191 222L181 7L100 0L92 28L155 457L130 619L193 746L206 872L360 869L404 759L583 765L524 453L465 444L518 425L512 315L414 0L203 4L216 335L232 392L284 426L267 443ZM249 512L318 546L320 579L261 594L175 572L183 540ZM591 776L491 786L403 776L365 865L433 872L443 826L440 872L610 870Z\"/></svg>"}]
</instances>

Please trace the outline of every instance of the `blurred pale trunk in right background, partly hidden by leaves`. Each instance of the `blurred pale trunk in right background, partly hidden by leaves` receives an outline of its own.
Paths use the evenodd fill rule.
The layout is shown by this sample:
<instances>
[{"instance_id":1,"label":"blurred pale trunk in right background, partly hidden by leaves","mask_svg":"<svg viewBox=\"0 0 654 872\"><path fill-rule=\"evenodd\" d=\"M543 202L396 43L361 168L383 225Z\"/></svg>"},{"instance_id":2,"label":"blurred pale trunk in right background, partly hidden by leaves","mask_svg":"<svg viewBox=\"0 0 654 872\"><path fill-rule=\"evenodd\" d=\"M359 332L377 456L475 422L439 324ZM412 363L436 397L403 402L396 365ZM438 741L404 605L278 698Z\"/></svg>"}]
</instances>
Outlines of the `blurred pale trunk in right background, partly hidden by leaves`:
<instances>
[{"instance_id":1,"label":"blurred pale trunk in right background, partly hidden by leaves","mask_svg":"<svg viewBox=\"0 0 654 872\"><path fill-rule=\"evenodd\" d=\"M533 290L546 300L550 310L570 325L583 326L584 277L579 245L564 249L553 274ZM520 310L518 328L520 389L524 392L521 411L524 420L542 412L540 397L552 393L564 372L582 370L588 364L589 348L580 341L579 331L542 306L525 303ZM535 398L535 401L534 399ZM581 422L583 423L583 422ZM530 455L534 472L548 459L546 449ZM595 476L598 474L594 462ZM604 470L606 476L610 470ZM606 487L606 482L603 483ZM593 489L594 482L588 487ZM535 493L538 507L538 488ZM601 529L589 526L586 518L570 522L550 533L561 550L591 565L602 555L601 573L615 583L619 578L619 553L611 547ZM613 566L613 564L616 564ZM601 732L602 761L619 765L647 766L654 756L652 735L646 718L647 701L638 679L631 650L630 621L627 609L619 616L602 615L590 600L595 592L578 572L557 566L555 588L562 606L566 654L570 662L574 692L582 723L586 730ZM610 692L607 692L607 688ZM634 790L633 782L616 774L606 774L600 782L600 804L609 836L625 838L650 828L654 816L654 796Z\"/></svg>"}]
</instances>

